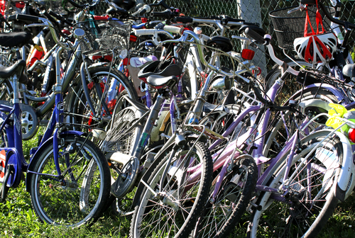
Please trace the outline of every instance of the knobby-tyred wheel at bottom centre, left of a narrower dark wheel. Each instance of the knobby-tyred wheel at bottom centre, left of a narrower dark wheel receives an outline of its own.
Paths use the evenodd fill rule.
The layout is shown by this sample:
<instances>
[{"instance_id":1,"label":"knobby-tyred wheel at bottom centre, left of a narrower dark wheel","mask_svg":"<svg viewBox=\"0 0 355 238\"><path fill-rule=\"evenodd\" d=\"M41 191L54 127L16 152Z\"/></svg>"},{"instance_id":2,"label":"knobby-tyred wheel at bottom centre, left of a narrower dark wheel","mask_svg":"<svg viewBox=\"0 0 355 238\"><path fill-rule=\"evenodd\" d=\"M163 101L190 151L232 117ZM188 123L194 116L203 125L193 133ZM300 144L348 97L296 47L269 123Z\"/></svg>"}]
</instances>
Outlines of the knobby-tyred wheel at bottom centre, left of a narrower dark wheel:
<instances>
[{"instance_id":1,"label":"knobby-tyred wheel at bottom centre, left of a narrower dark wheel","mask_svg":"<svg viewBox=\"0 0 355 238\"><path fill-rule=\"evenodd\" d=\"M132 237L188 237L206 204L212 174L207 147L190 141L178 150L170 147L167 152L153 172L147 171L151 173L149 187L143 189L141 203L133 213ZM201 166L200 180L190 181L188 169L193 166ZM164 175L165 168L168 171Z\"/></svg>"}]
</instances>

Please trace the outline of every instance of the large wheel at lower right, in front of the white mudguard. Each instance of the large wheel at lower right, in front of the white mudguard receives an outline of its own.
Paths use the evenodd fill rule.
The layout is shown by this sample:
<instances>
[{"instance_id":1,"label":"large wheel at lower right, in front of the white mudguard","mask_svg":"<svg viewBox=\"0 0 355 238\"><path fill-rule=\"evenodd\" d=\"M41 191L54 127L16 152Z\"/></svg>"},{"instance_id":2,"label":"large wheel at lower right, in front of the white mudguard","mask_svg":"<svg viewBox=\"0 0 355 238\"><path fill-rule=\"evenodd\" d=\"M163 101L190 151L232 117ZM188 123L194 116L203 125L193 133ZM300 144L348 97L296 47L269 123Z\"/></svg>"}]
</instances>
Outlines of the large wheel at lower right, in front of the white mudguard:
<instances>
[{"instance_id":1,"label":"large wheel at lower right, in front of the white mudguard","mask_svg":"<svg viewBox=\"0 0 355 238\"><path fill-rule=\"evenodd\" d=\"M322 142L328 134L329 131L320 131L305 137L286 176L290 151L273 167L266 184L280 188L287 181L283 196L263 193L258 198L263 210L253 212L249 237L316 237L324 227L338 202L334 189L343 159L342 142L337 137ZM317 149L312 152L314 148ZM297 166L300 169L296 171ZM295 176L291 176L294 172Z\"/></svg>"}]
</instances>

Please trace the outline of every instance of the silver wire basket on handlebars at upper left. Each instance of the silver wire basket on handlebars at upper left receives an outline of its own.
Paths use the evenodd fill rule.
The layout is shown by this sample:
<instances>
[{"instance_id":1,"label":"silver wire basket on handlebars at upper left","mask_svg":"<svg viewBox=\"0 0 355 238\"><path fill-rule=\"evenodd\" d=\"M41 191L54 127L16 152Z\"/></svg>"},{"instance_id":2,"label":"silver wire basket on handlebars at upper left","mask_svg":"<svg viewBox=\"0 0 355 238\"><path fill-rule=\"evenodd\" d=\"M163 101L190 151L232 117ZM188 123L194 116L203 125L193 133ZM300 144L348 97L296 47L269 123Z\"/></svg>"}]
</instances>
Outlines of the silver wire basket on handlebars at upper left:
<instances>
[{"instance_id":1,"label":"silver wire basket on handlebars at upper left","mask_svg":"<svg viewBox=\"0 0 355 238\"><path fill-rule=\"evenodd\" d=\"M89 20L78 23L77 28L85 31L87 42L82 44L82 52L86 55L111 54L112 50L129 49L131 23Z\"/></svg>"}]
</instances>

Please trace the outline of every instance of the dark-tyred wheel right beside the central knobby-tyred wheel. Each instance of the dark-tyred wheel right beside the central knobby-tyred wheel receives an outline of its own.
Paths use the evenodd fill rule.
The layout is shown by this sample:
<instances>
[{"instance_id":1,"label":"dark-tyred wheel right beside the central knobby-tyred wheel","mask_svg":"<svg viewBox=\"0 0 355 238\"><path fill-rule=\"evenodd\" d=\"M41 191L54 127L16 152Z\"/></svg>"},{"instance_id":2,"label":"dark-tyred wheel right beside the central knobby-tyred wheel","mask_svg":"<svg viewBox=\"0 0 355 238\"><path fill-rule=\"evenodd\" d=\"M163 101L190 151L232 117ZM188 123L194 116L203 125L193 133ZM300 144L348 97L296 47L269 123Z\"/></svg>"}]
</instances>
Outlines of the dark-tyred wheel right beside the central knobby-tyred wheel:
<instances>
[{"instance_id":1,"label":"dark-tyred wheel right beside the central knobby-tyred wheel","mask_svg":"<svg viewBox=\"0 0 355 238\"><path fill-rule=\"evenodd\" d=\"M194 237L226 237L246 211L258 179L253 157L241 156L233 171L226 174L214 202L211 202L217 177L202 216L197 222Z\"/></svg>"}]
</instances>

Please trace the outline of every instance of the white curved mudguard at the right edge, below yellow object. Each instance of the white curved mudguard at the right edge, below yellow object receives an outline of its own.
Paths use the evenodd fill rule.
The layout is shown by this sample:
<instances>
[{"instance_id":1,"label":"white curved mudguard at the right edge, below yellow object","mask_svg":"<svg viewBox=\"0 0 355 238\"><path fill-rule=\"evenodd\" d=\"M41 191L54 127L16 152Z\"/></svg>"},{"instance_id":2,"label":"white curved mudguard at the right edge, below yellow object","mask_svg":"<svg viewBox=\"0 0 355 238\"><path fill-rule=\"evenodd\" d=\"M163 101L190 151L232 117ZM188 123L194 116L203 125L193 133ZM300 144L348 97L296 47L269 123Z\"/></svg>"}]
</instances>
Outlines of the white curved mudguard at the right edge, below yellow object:
<instances>
[{"instance_id":1,"label":"white curved mudguard at the right edge, below yellow object","mask_svg":"<svg viewBox=\"0 0 355 238\"><path fill-rule=\"evenodd\" d=\"M337 199L344 201L349 197L355 186L355 166L353 163L353 153L348 138L341 132L336 132L336 134L342 142L344 154L342 166L340 167L341 169L339 171L339 177L337 179L337 186L334 190L334 196Z\"/></svg>"}]
</instances>

